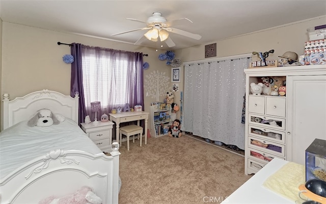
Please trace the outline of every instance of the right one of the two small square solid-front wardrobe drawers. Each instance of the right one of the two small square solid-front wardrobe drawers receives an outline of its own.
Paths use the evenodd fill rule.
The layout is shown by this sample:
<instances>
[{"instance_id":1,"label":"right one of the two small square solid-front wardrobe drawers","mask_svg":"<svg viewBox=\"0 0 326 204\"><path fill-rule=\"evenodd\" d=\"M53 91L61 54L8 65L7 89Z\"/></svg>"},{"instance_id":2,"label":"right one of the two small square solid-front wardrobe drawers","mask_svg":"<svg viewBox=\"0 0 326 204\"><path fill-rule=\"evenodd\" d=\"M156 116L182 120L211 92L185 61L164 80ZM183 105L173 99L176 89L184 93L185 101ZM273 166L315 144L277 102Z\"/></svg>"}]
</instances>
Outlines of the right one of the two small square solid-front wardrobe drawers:
<instances>
[{"instance_id":1,"label":"right one of the two small square solid-front wardrobe drawers","mask_svg":"<svg viewBox=\"0 0 326 204\"><path fill-rule=\"evenodd\" d=\"M285 117L285 97L267 97L266 114Z\"/></svg>"}]
</instances>

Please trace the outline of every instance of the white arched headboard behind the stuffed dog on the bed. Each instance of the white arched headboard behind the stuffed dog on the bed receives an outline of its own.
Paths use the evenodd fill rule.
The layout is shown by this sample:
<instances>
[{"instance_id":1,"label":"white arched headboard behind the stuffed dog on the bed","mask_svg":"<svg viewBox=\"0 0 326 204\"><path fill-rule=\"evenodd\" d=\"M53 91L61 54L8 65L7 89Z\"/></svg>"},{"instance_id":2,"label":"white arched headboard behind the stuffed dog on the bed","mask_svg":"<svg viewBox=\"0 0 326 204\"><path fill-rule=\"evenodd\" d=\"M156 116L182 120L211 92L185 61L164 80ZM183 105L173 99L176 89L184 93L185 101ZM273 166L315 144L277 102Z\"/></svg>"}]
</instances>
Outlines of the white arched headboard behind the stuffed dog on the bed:
<instances>
[{"instance_id":1,"label":"white arched headboard behind the stuffed dog on the bed","mask_svg":"<svg viewBox=\"0 0 326 204\"><path fill-rule=\"evenodd\" d=\"M78 95L79 93L76 92L75 97L72 98L70 95L43 89L10 100L9 94L5 93L3 128L7 129L18 122L29 120L40 109L49 109L78 124Z\"/></svg>"}]
</instances>

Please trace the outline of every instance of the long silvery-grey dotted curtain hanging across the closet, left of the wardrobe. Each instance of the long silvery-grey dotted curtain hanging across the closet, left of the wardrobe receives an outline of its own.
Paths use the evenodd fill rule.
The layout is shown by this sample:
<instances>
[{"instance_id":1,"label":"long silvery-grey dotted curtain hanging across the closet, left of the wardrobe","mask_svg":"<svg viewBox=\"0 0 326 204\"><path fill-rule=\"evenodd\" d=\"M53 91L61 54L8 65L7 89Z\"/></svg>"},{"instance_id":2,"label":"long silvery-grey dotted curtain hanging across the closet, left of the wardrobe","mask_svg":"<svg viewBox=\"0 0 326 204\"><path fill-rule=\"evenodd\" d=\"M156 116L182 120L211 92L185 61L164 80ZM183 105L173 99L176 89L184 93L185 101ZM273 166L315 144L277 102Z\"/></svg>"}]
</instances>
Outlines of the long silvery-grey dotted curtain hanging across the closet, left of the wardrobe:
<instances>
[{"instance_id":1,"label":"long silvery-grey dotted curtain hanging across the closet, left of the wardrobe","mask_svg":"<svg viewBox=\"0 0 326 204\"><path fill-rule=\"evenodd\" d=\"M241 123L250 58L185 65L182 130L244 149Z\"/></svg>"}]
</instances>

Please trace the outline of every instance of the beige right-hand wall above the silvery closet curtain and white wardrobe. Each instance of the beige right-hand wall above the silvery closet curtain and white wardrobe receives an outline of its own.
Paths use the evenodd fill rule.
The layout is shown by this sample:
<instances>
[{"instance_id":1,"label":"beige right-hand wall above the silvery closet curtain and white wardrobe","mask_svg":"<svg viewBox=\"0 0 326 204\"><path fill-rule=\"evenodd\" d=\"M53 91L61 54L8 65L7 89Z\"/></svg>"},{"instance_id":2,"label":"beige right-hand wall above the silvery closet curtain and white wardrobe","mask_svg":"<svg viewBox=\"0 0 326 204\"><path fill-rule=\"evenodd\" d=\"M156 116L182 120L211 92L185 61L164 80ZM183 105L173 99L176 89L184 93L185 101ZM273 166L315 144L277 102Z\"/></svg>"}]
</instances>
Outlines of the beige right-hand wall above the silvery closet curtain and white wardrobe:
<instances>
[{"instance_id":1,"label":"beige right-hand wall above the silvery closet curtain and white wardrobe","mask_svg":"<svg viewBox=\"0 0 326 204\"><path fill-rule=\"evenodd\" d=\"M293 51L298 55L302 55L305 49L304 43L309 41L307 28L324 25L325 22L326 16L320 16L318 18L289 23L287 25L248 33L234 38L210 42L205 45L216 43L216 57L247 54L253 51L266 52L271 49L274 49L275 52L274 54L269 54L268 59L278 59L278 56L283 55L286 51ZM221 30L221 32L223 32L223 30ZM183 62L203 60L205 59L205 45L178 50L176 55L180 56ZM257 55L253 56L253 60L258 61ZM180 88L183 89L183 80L180 85ZM175 95L175 101L179 101L180 94Z\"/></svg>"}]
</instances>

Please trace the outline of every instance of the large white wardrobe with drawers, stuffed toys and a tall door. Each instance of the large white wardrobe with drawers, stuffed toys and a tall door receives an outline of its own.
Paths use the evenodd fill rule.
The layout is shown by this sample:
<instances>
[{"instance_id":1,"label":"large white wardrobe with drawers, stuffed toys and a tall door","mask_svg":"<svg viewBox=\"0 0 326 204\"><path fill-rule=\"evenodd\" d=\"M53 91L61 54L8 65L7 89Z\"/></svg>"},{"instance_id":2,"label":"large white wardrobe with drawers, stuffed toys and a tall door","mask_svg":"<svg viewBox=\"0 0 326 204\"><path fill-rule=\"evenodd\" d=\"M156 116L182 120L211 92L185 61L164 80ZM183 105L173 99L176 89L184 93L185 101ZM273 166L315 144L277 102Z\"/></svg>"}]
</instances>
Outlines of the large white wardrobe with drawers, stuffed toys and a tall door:
<instances>
[{"instance_id":1,"label":"large white wardrobe with drawers, stuffed toys and a tall door","mask_svg":"<svg viewBox=\"0 0 326 204\"><path fill-rule=\"evenodd\" d=\"M256 68L244 73L244 173L257 173L275 157L305 165L307 147L316 138L326 140L326 65ZM276 76L286 77L285 96L251 94L252 82Z\"/></svg>"}]
</instances>

